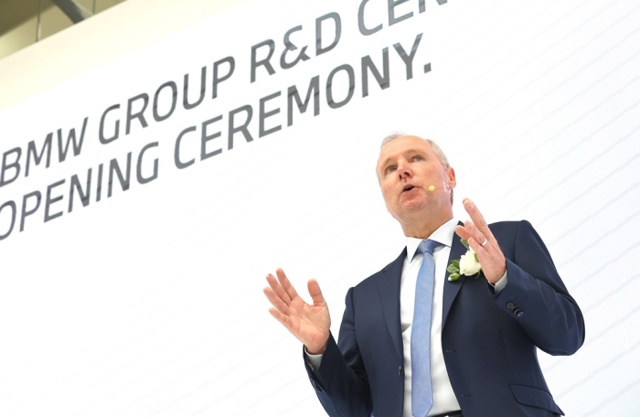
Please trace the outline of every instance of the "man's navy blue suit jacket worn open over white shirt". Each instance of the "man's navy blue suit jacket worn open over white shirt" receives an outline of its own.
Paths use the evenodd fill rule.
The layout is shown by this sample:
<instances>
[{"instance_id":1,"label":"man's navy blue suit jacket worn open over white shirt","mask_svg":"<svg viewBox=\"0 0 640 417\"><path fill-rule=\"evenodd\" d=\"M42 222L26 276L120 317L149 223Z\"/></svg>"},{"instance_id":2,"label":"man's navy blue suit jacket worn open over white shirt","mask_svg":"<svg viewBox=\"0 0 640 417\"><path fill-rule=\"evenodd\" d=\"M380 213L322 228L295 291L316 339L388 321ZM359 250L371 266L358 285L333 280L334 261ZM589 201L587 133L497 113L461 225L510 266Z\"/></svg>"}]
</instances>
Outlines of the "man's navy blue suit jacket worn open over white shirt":
<instances>
[{"instance_id":1,"label":"man's navy blue suit jacket worn open over white shirt","mask_svg":"<svg viewBox=\"0 0 640 417\"><path fill-rule=\"evenodd\" d=\"M465 417L562 414L542 376L537 348L551 355L571 355L580 348L580 308L528 221L490 228L507 258L505 289L494 294L484 276L444 283L442 343L453 392ZM450 261L464 251L454 235ZM329 338L318 369L306 362L331 416L402 415L400 273L405 256L406 249L349 289L337 344Z\"/></svg>"}]
</instances>

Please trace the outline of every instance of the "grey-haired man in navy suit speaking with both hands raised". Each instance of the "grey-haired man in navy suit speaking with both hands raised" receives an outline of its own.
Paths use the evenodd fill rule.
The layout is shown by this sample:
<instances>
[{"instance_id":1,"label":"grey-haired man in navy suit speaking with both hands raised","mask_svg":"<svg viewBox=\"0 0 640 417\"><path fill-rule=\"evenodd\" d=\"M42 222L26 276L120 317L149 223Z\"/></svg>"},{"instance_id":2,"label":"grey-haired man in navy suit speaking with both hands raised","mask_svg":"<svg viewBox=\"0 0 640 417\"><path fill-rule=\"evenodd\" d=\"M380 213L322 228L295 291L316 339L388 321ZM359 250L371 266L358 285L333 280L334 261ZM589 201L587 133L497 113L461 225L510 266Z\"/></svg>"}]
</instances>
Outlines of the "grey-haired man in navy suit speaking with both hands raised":
<instances>
[{"instance_id":1,"label":"grey-haired man in navy suit speaking with both hands raised","mask_svg":"<svg viewBox=\"0 0 640 417\"><path fill-rule=\"evenodd\" d=\"M315 280L308 283L314 305L304 303L282 270L278 279L267 276L264 289L271 314L303 342L325 411L349 417L562 415L536 352L571 355L582 345L584 323L536 231L524 220L487 225L467 198L471 221L453 219L455 173L432 141L385 138L377 174L407 248L348 291L338 342ZM466 251L454 232L475 251L466 257L472 267L477 259L482 269L450 281L447 266ZM435 249L417 250L425 247L422 241ZM430 297L416 289L425 274L431 275ZM423 311L430 327L418 340Z\"/></svg>"}]
</instances>

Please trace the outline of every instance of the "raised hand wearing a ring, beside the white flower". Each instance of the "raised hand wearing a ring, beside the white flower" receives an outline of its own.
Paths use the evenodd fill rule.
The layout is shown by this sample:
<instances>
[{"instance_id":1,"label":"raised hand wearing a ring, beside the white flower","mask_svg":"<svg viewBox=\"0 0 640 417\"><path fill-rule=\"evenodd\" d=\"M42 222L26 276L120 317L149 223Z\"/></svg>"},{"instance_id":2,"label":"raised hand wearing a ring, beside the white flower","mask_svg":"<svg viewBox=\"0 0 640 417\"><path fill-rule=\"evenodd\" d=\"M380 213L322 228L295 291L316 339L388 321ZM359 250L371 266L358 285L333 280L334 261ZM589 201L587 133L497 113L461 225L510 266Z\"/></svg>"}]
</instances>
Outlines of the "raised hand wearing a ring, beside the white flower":
<instances>
[{"instance_id":1,"label":"raised hand wearing a ring, beside the white flower","mask_svg":"<svg viewBox=\"0 0 640 417\"><path fill-rule=\"evenodd\" d=\"M475 251L478 262L482 265L482 271L485 273L486 281L497 283L507 271L505 255L474 202L469 198L464 198L463 205L471 216L471 221L465 221L464 227L456 226L455 232L469 242L469 246Z\"/></svg>"}]
</instances>

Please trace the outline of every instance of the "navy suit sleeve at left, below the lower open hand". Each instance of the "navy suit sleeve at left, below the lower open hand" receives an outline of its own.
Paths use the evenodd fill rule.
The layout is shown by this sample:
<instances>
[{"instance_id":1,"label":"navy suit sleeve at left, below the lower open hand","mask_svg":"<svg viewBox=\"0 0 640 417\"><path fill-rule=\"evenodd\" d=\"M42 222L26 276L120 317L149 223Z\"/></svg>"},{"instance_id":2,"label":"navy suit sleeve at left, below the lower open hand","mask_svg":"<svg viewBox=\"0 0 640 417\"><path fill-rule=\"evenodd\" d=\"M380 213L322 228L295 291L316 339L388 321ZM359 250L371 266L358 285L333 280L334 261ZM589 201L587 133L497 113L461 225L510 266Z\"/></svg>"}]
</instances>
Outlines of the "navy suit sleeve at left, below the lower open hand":
<instances>
[{"instance_id":1,"label":"navy suit sleeve at left, below the lower open hand","mask_svg":"<svg viewBox=\"0 0 640 417\"><path fill-rule=\"evenodd\" d=\"M304 357L315 393L331 417L368 417L373 410L367 373L357 346L352 294L353 288L345 301L339 347L330 335L318 369Z\"/></svg>"}]
</instances>

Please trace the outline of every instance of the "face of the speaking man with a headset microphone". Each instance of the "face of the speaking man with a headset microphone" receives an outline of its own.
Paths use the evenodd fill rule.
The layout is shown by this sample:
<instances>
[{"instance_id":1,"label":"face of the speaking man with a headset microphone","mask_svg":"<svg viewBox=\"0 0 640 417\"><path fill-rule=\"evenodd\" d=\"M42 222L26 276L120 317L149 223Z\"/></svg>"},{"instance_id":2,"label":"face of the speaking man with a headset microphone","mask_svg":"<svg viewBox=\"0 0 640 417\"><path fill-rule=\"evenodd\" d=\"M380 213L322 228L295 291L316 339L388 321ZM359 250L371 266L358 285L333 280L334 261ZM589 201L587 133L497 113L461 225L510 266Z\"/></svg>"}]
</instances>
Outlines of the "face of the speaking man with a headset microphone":
<instances>
[{"instance_id":1,"label":"face of the speaking man with a headset microphone","mask_svg":"<svg viewBox=\"0 0 640 417\"><path fill-rule=\"evenodd\" d=\"M385 144L377 173L387 209L401 223L421 211L432 215L450 212L455 173L451 167L444 168L425 140L402 136Z\"/></svg>"}]
</instances>

